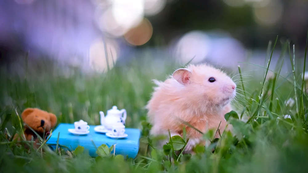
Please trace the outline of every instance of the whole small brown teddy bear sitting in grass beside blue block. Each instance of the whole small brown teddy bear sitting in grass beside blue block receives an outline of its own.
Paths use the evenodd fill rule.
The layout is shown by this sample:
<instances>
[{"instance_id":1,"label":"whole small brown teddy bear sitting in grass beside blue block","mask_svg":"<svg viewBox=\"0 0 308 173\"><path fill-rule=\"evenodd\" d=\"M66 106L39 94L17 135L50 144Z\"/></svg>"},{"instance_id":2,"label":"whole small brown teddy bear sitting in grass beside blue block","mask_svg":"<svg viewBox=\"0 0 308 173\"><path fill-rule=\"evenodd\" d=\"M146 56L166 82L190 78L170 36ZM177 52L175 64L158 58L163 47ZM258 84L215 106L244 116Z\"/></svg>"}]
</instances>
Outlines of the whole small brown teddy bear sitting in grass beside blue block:
<instances>
[{"instance_id":1,"label":"whole small brown teddy bear sitting in grass beside blue block","mask_svg":"<svg viewBox=\"0 0 308 173\"><path fill-rule=\"evenodd\" d=\"M38 147L36 143L39 142L39 139L30 128L32 128L39 136L43 138L44 136L46 137L47 133L51 131L51 128L55 127L57 124L57 116L55 116L55 114L43 111L38 108L26 108L22 112L21 116L25 124L24 134L26 140L31 140L33 136L33 140L35 141L34 147ZM16 134L14 139L17 137L19 136ZM43 140L45 139L43 138Z\"/></svg>"}]
</instances>

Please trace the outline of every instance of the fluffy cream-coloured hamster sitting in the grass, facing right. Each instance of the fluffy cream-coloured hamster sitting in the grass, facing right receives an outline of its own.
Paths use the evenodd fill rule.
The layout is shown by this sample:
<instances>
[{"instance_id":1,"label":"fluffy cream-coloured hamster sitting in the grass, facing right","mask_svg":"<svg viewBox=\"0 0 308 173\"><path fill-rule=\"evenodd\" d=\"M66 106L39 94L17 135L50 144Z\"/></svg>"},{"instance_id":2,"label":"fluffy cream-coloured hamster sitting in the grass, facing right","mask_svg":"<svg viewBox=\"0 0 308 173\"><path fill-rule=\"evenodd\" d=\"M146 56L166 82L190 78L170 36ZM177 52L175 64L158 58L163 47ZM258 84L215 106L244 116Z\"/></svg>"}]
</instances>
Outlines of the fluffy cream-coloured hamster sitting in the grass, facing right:
<instances>
[{"instance_id":1,"label":"fluffy cream-coloured hamster sitting in the grass, facing right","mask_svg":"<svg viewBox=\"0 0 308 173\"><path fill-rule=\"evenodd\" d=\"M152 124L150 135L169 136L170 130L171 136L182 137L183 121L203 133L209 129L216 132L218 126L221 133L225 130L224 115L232 110L231 101L236 96L236 84L226 73L208 64L188 65L175 70L164 82L153 81L157 86L145 106ZM231 124L227 128L230 130ZM200 132L187 125L185 130L189 138L185 153L193 153L196 144L205 144ZM215 138L219 137L217 132Z\"/></svg>"}]
</instances>

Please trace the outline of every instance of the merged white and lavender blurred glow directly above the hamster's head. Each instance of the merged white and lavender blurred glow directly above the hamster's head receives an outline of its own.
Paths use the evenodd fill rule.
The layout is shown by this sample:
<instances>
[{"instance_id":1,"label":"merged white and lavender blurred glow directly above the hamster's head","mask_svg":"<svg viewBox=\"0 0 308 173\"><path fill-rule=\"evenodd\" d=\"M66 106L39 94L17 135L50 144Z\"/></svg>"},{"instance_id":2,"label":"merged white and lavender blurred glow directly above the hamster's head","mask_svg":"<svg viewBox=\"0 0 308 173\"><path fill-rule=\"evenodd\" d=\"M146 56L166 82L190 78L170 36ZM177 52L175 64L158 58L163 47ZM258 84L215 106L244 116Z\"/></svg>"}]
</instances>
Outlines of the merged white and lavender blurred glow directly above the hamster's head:
<instances>
[{"instance_id":1,"label":"merged white and lavender blurred glow directly above the hamster's head","mask_svg":"<svg viewBox=\"0 0 308 173\"><path fill-rule=\"evenodd\" d=\"M215 65L237 67L246 55L245 47L227 32L191 31L174 41L173 56L180 63L208 61Z\"/></svg>"}]
</instances>

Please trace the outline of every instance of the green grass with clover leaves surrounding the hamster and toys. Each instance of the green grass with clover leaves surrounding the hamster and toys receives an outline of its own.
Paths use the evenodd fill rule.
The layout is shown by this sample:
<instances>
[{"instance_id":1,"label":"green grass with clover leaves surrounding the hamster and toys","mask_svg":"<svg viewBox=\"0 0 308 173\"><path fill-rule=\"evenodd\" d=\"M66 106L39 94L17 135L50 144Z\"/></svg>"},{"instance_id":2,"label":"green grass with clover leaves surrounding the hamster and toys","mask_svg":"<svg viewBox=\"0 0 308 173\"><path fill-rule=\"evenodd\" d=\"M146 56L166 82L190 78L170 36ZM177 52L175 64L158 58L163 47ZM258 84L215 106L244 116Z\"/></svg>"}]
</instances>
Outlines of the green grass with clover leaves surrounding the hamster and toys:
<instances>
[{"instance_id":1,"label":"green grass with clover leaves surrounding the hamster and toys","mask_svg":"<svg viewBox=\"0 0 308 173\"><path fill-rule=\"evenodd\" d=\"M269 46L272 50L274 47ZM292 45L286 42L282 47L282 56L275 69L269 69L268 64L258 66L258 71L244 71L252 66L249 63L239 63L238 69L227 69L230 73L237 72L233 76L239 88L234 111L240 117L246 117L247 122L239 120L237 114L231 112L226 119L235 129L234 136L220 132L221 139L210 139L211 134L216 132L213 129L204 134L211 144L208 147L197 146L197 154L193 156L175 152L181 152L189 140L186 137L173 137L164 149L156 148L156 139L149 136L151 125L144 109L154 86L151 80L164 80L166 75L180 67L178 64L155 64L145 58L122 67L115 66L104 74L84 74L80 69L71 67L63 72L65 75L61 74L61 69L66 67L46 59L30 64L26 58L14 68L1 67L0 171L306 172L308 97L306 92L302 92L306 86L300 76L306 65L306 54L304 62L297 58L293 60ZM267 57L267 60L270 59L271 55ZM289 64L292 62L290 68L295 69L294 73L289 71L282 75L282 63L287 61ZM273 71L274 75L265 80L264 76L269 71ZM285 104L289 98L296 102L292 107ZM83 119L98 125L99 111L105 112L112 105L127 110L127 127L142 131L135 159L115 157L112 148L109 150L111 154L106 154L103 152L106 146L97 146L100 153L97 158L91 158L82 147L75 151L68 148L70 152L65 152L64 146L59 145L60 152L54 152L48 150L44 141L44 152L33 148L27 151L8 138L22 129L18 115L27 107L55 113L58 123ZM290 115L291 119L284 119L284 115ZM27 144L31 146L31 143ZM212 152L212 149L215 151ZM105 148L104 151L108 150Z\"/></svg>"}]
</instances>

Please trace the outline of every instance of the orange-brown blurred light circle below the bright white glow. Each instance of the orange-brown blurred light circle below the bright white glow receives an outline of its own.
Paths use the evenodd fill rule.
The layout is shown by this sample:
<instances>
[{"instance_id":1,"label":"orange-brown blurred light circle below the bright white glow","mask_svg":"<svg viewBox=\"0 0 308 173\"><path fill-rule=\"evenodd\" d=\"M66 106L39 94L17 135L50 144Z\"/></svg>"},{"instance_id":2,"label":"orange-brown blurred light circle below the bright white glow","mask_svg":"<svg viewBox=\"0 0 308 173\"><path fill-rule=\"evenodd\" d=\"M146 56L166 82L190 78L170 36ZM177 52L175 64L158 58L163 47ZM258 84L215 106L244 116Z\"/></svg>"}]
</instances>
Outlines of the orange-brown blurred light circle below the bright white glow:
<instances>
[{"instance_id":1,"label":"orange-brown blurred light circle below the bright white glow","mask_svg":"<svg viewBox=\"0 0 308 173\"><path fill-rule=\"evenodd\" d=\"M151 22L144 18L138 26L125 33L124 38L132 45L143 45L150 40L152 33L153 28Z\"/></svg>"}]
</instances>

